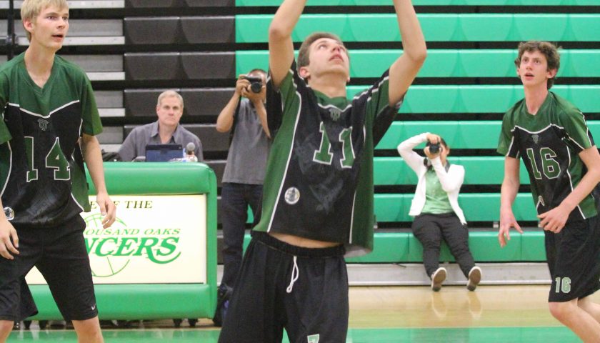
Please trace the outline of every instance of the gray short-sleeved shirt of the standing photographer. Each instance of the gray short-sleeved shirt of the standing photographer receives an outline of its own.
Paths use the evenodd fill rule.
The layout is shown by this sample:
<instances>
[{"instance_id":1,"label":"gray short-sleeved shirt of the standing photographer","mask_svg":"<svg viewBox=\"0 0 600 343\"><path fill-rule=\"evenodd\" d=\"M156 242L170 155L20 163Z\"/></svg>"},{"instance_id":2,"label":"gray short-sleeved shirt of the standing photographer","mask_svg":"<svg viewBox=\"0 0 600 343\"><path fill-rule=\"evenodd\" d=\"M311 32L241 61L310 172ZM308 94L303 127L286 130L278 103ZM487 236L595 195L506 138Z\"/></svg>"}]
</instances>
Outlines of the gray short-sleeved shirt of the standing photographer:
<instances>
[{"instance_id":1,"label":"gray short-sleeved shirt of the standing photographer","mask_svg":"<svg viewBox=\"0 0 600 343\"><path fill-rule=\"evenodd\" d=\"M271 141L264 133L261 120L248 99L241 99L237 115L223 182L263 184Z\"/></svg>"}]
</instances>

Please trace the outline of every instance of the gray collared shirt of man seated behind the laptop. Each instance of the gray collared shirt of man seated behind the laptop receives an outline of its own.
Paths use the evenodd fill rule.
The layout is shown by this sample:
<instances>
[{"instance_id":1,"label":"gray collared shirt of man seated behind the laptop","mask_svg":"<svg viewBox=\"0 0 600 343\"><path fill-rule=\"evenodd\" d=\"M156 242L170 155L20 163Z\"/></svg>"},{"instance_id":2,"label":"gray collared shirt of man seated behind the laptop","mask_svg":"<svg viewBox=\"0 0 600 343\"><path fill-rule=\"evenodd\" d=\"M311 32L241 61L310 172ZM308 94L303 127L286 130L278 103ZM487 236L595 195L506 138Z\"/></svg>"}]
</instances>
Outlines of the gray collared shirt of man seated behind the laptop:
<instances>
[{"instance_id":1,"label":"gray collared shirt of man seated behind the laptop","mask_svg":"<svg viewBox=\"0 0 600 343\"><path fill-rule=\"evenodd\" d=\"M203 161L202 155L202 143L200 139L188 131L184 126L177 125L177 129L171 136L171 140L167 144L181 144L182 148L192 142L196 146L194 154L198 157L198 161ZM129 134L127 138L121 144L119 149L119 156L123 161L133 161L137 156L146 156L146 145L148 144L162 144L161 136L159 135L159 121L154 123L136 126ZM183 154L183 151L182 151Z\"/></svg>"}]
</instances>

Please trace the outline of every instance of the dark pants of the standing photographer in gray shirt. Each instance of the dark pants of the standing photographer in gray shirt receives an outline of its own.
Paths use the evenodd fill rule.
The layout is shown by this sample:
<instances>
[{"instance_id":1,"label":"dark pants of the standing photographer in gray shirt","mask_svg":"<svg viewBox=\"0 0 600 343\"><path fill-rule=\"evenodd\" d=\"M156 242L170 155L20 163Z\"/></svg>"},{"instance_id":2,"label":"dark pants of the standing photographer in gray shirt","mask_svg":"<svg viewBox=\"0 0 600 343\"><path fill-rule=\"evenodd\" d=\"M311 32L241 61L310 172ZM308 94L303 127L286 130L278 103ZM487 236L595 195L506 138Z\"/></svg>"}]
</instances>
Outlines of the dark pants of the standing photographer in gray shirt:
<instances>
[{"instance_id":1,"label":"dark pants of the standing photographer in gray shirt","mask_svg":"<svg viewBox=\"0 0 600 343\"><path fill-rule=\"evenodd\" d=\"M226 182L221 189L221 222L223 223L223 279L221 284L235 287L241 267L241 251L246 232L248 206L258 223L261 213L262 185Z\"/></svg>"}]
</instances>

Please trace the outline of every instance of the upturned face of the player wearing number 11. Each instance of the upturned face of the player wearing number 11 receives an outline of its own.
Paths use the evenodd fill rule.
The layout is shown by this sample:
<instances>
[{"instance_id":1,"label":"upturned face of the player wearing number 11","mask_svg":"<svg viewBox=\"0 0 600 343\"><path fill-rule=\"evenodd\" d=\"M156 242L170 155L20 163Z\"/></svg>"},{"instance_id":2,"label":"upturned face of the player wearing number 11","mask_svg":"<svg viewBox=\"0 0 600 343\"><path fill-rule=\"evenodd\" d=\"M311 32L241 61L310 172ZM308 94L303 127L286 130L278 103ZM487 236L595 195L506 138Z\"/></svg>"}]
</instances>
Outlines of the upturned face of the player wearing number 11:
<instances>
[{"instance_id":1,"label":"upturned face of the player wearing number 11","mask_svg":"<svg viewBox=\"0 0 600 343\"><path fill-rule=\"evenodd\" d=\"M323 74L341 74L345 79L350 75L350 59L348 51L341 41L331 38L317 39L309 49L308 66L302 67L304 78L307 76L321 76Z\"/></svg>"}]
</instances>

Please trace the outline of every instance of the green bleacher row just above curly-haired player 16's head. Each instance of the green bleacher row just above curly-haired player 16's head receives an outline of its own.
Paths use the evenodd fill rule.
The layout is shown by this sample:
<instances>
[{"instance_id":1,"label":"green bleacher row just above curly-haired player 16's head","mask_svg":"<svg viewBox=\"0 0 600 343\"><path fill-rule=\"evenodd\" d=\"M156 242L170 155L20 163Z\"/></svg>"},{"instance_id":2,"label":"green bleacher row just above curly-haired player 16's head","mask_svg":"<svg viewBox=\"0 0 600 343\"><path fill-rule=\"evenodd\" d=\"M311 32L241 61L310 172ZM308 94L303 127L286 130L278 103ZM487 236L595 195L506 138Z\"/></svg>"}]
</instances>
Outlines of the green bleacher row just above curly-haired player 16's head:
<instances>
[{"instance_id":1,"label":"green bleacher row just above curly-haired player 16's head","mask_svg":"<svg viewBox=\"0 0 600 343\"><path fill-rule=\"evenodd\" d=\"M272 18L236 16L236 42L267 41ZM419 22L426 41L600 41L600 14L419 14ZM400 41L397 27L395 14L306 14L292 39L329 31L342 41Z\"/></svg>"}]
</instances>

